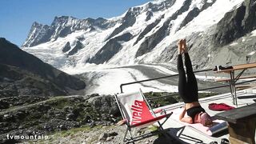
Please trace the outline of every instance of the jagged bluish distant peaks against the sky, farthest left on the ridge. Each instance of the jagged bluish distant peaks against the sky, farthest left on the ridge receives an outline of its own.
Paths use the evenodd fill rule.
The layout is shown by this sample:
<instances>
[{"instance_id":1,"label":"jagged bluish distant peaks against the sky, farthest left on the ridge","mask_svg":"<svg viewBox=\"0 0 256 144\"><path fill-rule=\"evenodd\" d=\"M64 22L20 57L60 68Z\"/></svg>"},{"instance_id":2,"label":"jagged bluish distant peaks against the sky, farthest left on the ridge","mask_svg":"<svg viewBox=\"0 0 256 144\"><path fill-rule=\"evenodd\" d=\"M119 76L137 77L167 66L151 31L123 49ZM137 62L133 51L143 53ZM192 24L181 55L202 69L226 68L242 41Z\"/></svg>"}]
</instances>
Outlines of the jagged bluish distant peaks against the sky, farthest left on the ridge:
<instances>
[{"instance_id":1,"label":"jagged bluish distant peaks against the sky, farthest left on the ridge","mask_svg":"<svg viewBox=\"0 0 256 144\"><path fill-rule=\"evenodd\" d=\"M106 29L107 27L114 26L114 24L115 22L108 22L104 18L78 19L67 16L55 17L51 26L34 22L30 34L22 46L36 46L40 43L48 42L50 39L66 37L66 35L71 34L75 30L94 30L94 26Z\"/></svg>"}]
</instances>

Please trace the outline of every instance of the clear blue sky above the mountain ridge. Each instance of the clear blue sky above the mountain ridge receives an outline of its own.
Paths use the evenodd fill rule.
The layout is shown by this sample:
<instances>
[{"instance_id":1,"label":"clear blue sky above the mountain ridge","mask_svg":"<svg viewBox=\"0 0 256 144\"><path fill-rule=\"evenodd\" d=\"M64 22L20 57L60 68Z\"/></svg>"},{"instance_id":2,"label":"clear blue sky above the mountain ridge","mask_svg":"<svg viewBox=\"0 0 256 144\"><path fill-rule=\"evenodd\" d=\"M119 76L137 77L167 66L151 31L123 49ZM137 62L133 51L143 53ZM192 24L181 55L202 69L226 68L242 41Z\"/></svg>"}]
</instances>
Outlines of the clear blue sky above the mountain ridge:
<instances>
[{"instance_id":1,"label":"clear blue sky above the mountain ridge","mask_svg":"<svg viewBox=\"0 0 256 144\"><path fill-rule=\"evenodd\" d=\"M0 0L0 37L21 46L33 22L50 25L55 16L112 18L151 0Z\"/></svg>"}]
</instances>

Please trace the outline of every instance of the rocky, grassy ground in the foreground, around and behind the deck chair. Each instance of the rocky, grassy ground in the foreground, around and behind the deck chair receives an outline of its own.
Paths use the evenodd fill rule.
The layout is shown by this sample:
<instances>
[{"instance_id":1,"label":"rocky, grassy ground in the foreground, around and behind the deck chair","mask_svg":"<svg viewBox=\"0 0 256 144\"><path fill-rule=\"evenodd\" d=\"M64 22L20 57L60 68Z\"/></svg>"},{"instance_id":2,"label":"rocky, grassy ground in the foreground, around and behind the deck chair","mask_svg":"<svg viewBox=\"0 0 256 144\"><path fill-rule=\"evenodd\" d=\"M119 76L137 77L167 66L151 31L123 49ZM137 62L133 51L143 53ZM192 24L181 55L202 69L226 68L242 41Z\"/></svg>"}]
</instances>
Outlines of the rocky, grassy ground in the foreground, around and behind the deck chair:
<instances>
[{"instance_id":1,"label":"rocky, grassy ground in the foreground, around and behind the deck chair","mask_svg":"<svg viewBox=\"0 0 256 144\"><path fill-rule=\"evenodd\" d=\"M145 95L150 98L162 94L150 92ZM210 94L204 94L205 96ZM177 100L180 98L150 100L150 106L154 108L165 106L176 103ZM27 142L27 140L7 138L7 134L23 136L44 134L49 139L42 139L43 143L122 142L125 126L115 126L121 119L114 95L0 98L0 143ZM143 134L145 130L155 130L155 127L133 132ZM159 138L158 136L146 138L139 143L158 142L162 139ZM171 141L175 142L174 139ZM34 140L34 142L38 141Z\"/></svg>"}]
</instances>

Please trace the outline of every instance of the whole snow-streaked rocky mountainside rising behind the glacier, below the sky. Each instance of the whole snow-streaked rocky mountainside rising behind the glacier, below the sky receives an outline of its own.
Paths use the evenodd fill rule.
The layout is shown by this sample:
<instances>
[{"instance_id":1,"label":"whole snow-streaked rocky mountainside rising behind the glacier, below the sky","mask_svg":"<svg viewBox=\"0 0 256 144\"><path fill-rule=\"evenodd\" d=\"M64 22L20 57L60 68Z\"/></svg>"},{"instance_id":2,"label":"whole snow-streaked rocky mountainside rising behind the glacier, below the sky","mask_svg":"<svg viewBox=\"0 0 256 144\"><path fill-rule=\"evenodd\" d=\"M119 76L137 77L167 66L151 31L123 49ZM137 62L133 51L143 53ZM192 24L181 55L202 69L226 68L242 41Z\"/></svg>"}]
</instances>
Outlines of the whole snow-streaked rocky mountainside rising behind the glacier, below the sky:
<instances>
[{"instance_id":1,"label":"whole snow-streaked rocky mountainside rising behind the glacier, below the sky","mask_svg":"<svg viewBox=\"0 0 256 144\"><path fill-rule=\"evenodd\" d=\"M22 47L67 70L86 63L175 62L176 42L187 38L195 68L233 65L245 63L255 51L254 11L255 0L158 0L116 18L62 16L50 26L34 22Z\"/></svg>"}]
</instances>

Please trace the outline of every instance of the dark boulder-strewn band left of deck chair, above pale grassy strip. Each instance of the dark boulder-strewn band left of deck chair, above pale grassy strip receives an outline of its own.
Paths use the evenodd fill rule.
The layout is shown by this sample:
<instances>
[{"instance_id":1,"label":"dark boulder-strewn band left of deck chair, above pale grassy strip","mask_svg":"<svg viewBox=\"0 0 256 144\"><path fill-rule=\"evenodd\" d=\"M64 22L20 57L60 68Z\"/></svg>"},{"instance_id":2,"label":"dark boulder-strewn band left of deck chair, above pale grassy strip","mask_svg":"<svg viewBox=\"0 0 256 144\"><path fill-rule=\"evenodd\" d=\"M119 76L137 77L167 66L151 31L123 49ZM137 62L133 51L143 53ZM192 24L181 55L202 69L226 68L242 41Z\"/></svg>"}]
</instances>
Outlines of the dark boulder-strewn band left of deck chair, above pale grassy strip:
<instances>
[{"instance_id":1,"label":"dark boulder-strewn band left of deck chair, above pale grassy strip","mask_svg":"<svg viewBox=\"0 0 256 144\"><path fill-rule=\"evenodd\" d=\"M2 98L0 104L8 106L0 107L0 143L20 142L7 134L50 135L80 126L110 126L120 119L110 95Z\"/></svg>"}]
</instances>

